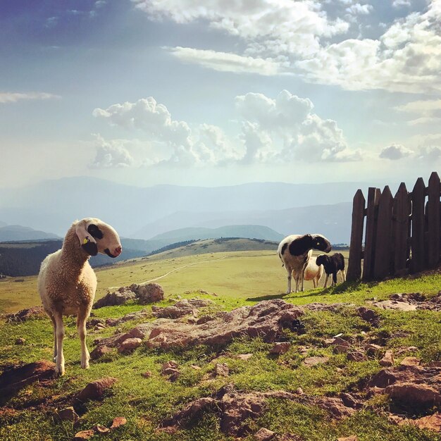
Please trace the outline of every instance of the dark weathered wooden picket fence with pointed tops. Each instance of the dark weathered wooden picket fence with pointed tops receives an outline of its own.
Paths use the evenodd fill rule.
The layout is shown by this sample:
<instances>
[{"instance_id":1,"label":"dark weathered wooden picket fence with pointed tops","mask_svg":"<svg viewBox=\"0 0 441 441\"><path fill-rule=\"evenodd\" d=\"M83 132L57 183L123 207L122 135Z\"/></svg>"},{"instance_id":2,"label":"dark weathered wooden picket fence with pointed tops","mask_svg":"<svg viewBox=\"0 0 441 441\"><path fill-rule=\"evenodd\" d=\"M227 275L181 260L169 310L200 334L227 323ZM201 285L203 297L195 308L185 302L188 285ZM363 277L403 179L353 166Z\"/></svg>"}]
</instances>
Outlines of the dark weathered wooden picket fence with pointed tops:
<instances>
[{"instance_id":1,"label":"dark weathered wooden picket fence with pointed tops","mask_svg":"<svg viewBox=\"0 0 441 441\"><path fill-rule=\"evenodd\" d=\"M395 197L388 186L383 192L371 187L367 204L358 190L352 209L347 280L383 280L437 266L441 251L440 190L436 172L430 175L428 187L423 178L418 178L408 192L402 182Z\"/></svg>"}]
</instances>

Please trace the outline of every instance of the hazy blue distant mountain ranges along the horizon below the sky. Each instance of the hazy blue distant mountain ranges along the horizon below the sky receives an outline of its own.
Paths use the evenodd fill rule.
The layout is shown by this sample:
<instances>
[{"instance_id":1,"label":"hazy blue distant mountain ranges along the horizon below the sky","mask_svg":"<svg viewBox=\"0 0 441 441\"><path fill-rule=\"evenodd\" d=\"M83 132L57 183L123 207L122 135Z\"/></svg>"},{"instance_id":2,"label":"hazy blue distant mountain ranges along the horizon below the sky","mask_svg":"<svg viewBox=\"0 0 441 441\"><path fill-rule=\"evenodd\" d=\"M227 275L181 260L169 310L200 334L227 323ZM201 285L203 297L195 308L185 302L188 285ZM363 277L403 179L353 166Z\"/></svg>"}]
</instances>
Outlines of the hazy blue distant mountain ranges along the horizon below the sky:
<instances>
[{"instance_id":1,"label":"hazy blue distant mountain ranges along the horizon below the sky","mask_svg":"<svg viewBox=\"0 0 441 441\"><path fill-rule=\"evenodd\" d=\"M263 225L280 235L321 232L349 242L354 182L256 182L230 187L134 187L97 178L47 180L0 190L0 220L63 237L77 218L99 217L120 236L151 239L182 228ZM182 238L182 235L179 236Z\"/></svg>"}]
</instances>

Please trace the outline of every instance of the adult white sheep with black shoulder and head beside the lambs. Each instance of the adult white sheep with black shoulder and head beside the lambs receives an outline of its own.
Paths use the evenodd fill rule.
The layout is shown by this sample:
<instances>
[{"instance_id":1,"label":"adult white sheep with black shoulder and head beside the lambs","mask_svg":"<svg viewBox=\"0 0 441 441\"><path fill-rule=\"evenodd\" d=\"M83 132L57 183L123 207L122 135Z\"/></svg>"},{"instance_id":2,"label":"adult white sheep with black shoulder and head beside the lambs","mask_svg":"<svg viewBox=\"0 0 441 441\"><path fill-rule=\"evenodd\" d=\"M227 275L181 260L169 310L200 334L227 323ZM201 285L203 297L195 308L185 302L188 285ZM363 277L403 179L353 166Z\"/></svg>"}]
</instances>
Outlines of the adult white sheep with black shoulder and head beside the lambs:
<instances>
[{"instance_id":1,"label":"adult white sheep with black shoulder and head beside the lambs","mask_svg":"<svg viewBox=\"0 0 441 441\"><path fill-rule=\"evenodd\" d=\"M325 251L331 250L331 244L323 235L290 235L280 242L278 255L287 271L287 294L291 292L291 278L294 272L296 281L296 292L299 292L299 280L302 282L304 291L304 273L308 265L312 249ZM311 252L309 252L311 251Z\"/></svg>"}]
</instances>

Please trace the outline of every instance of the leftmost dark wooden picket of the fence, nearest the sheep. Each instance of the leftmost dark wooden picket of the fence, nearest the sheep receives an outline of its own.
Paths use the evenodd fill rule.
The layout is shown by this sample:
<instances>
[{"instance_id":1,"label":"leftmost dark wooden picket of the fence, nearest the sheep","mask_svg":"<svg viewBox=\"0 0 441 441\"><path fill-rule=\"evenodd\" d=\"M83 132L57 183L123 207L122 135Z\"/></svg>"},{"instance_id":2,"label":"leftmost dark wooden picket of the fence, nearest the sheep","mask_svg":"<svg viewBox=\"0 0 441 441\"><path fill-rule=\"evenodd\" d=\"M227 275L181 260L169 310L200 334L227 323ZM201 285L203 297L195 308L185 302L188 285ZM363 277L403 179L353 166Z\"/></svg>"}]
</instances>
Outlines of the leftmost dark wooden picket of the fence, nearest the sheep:
<instances>
[{"instance_id":1,"label":"leftmost dark wooden picket of the fence, nearest the sheep","mask_svg":"<svg viewBox=\"0 0 441 441\"><path fill-rule=\"evenodd\" d=\"M349 264L347 268L347 280L359 280L361 276L361 247L363 242L364 225L363 192L357 190L352 204L352 230L351 244L349 248Z\"/></svg>"}]
</instances>

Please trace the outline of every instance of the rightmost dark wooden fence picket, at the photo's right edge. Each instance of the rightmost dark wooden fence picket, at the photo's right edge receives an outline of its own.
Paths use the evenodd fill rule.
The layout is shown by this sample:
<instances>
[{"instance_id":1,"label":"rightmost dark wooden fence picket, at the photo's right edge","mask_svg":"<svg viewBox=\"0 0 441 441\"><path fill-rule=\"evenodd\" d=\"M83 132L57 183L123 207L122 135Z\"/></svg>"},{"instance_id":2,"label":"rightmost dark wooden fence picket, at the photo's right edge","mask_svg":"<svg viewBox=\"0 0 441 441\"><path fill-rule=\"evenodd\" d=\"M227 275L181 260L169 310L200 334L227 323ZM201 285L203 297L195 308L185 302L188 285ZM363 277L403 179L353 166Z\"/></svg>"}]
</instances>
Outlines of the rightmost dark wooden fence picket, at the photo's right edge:
<instances>
[{"instance_id":1,"label":"rightmost dark wooden fence picket, at the photo's right edge","mask_svg":"<svg viewBox=\"0 0 441 441\"><path fill-rule=\"evenodd\" d=\"M428 186L428 266L440 261L440 177L434 171Z\"/></svg>"}]
</instances>

